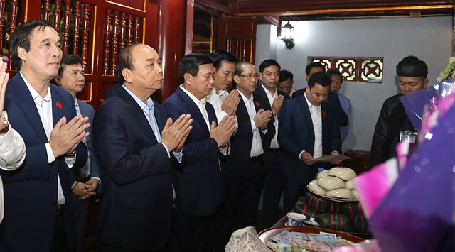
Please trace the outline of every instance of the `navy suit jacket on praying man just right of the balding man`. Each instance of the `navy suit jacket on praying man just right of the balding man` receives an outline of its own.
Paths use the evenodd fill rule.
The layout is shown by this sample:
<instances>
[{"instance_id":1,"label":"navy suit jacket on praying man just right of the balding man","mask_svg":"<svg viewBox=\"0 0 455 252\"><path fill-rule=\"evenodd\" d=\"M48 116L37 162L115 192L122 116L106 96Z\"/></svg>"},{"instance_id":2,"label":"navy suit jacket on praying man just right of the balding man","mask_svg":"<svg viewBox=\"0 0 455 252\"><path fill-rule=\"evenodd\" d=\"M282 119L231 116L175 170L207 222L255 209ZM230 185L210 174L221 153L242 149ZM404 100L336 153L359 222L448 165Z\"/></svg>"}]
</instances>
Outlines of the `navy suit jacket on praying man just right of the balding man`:
<instances>
[{"instance_id":1,"label":"navy suit jacket on praying man just right of the balding man","mask_svg":"<svg viewBox=\"0 0 455 252\"><path fill-rule=\"evenodd\" d=\"M210 216L220 206L225 193L218 145L210 138L198 106L180 87L163 102L163 106L173 121L181 114L191 114L193 119L193 129L183 146L183 160L177 172L178 210L187 215ZM216 122L212 104L207 102L205 110L210 124Z\"/></svg>"}]
</instances>

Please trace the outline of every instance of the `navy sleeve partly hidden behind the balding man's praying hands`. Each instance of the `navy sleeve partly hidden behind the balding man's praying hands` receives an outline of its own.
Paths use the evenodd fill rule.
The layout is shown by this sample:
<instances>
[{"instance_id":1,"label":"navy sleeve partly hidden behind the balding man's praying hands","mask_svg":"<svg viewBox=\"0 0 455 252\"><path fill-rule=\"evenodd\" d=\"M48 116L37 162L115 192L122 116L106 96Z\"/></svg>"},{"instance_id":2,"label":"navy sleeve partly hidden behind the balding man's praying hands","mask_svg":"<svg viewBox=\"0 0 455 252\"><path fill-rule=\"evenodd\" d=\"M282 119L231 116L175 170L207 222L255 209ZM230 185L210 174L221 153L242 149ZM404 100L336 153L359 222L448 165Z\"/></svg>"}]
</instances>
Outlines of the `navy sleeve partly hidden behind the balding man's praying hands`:
<instances>
[{"instance_id":1,"label":"navy sleeve partly hidden behind the balding man's praying hands","mask_svg":"<svg viewBox=\"0 0 455 252\"><path fill-rule=\"evenodd\" d=\"M163 106L173 121L176 121L181 114L188 114L188 111L181 109L183 105L175 101L164 102ZM190 132L186 139L186 143L183 145L183 159L181 164L206 163L218 160L218 144L215 139L192 140L191 135L195 133L193 131L195 131L195 127L193 127L192 132Z\"/></svg>"}]
</instances>

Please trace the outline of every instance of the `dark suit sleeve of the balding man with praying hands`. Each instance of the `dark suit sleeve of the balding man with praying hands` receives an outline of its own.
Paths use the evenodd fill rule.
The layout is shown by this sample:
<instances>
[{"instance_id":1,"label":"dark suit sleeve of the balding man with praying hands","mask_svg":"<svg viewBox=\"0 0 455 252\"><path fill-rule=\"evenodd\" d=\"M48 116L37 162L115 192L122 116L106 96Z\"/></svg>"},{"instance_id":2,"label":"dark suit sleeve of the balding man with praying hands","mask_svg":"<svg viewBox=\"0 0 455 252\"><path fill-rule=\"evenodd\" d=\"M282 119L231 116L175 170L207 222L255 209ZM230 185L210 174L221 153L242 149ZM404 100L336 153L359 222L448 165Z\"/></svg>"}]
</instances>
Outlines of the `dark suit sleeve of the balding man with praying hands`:
<instances>
[{"instance_id":1,"label":"dark suit sleeve of the balding man with praying hands","mask_svg":"<svg viewBox=\"0 0 455 252\"><path fill-rule=\"evenodd\" d=\"M93 120L94 143L100 163L117 185L171 170L171 160L160 143L137 152L131 150L129 141L132 139L129 138L139 136L129 128L129 120L126 114L112 106L107 109L100 106Z\"/></svg>"}]
</instances>

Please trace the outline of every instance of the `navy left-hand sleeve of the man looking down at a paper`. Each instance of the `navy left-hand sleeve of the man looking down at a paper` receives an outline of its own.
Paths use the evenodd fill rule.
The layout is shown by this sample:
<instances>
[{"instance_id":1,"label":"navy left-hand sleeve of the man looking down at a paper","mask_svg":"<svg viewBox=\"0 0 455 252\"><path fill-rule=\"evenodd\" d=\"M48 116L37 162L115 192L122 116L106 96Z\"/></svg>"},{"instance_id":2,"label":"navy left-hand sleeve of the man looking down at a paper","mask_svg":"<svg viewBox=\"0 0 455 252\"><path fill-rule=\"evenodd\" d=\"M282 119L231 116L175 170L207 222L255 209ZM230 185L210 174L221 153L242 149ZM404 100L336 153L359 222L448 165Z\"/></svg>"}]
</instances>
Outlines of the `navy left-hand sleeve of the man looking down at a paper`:
<instances>
[{"instance_id":1,"label":"navy left-hand sleeve of the man looking down at a paper","mask_svg":"<svg viewBox=\"0 0 455 252\"><path fill-rule=\"evenodd\" d=\"M292 113L292 102L295 100L284 101L282 110L279 112L278 120L278 141L279 146L290 153L293 157L298 157L301 148L295 143L296 136L293 128L294 116Z\"/></svg>"}]
</instances>

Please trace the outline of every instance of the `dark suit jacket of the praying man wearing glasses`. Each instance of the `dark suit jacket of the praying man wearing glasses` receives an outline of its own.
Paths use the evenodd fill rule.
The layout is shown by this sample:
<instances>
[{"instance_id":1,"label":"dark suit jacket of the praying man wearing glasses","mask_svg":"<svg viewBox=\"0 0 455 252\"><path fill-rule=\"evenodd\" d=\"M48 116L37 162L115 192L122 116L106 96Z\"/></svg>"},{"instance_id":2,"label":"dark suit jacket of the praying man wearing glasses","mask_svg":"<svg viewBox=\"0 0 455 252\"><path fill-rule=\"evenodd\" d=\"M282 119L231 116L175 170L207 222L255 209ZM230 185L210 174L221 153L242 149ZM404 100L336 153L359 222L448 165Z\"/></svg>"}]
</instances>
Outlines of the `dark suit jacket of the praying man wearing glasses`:
<instances>
[{"instance_id":1,"label":"dark suit jacket of the praying man wearing glasses","mask_svg":"<svg viewBox=\"0 0 455 252\"><path fill-rule=\"evenodd\" d=\"M259 111L259 109L269 110L266 109L267 105L270 106L267 98L264 99L263 97L254 94L252 94L252 96L256 111ZM235 116L237 116L238 128L230 139L231 151L228 158L229 170L227 171L227 174L229 177L248 179L255 176L257 173L254 170L245 168L245 165L250 159L253 133L251 129L250 116L248 115L247 107L245 106L245 102L243 102L241 96ZM264 148L264 155L267 155L267 151L270 148L270 141L272 141L272 138L275 135L273 122L274 118L272 116L272 120L270 120L269 124L267 124L267 134L262 133L262 130L259 129L262 148Z\"/></svg>"}]
</instances>

